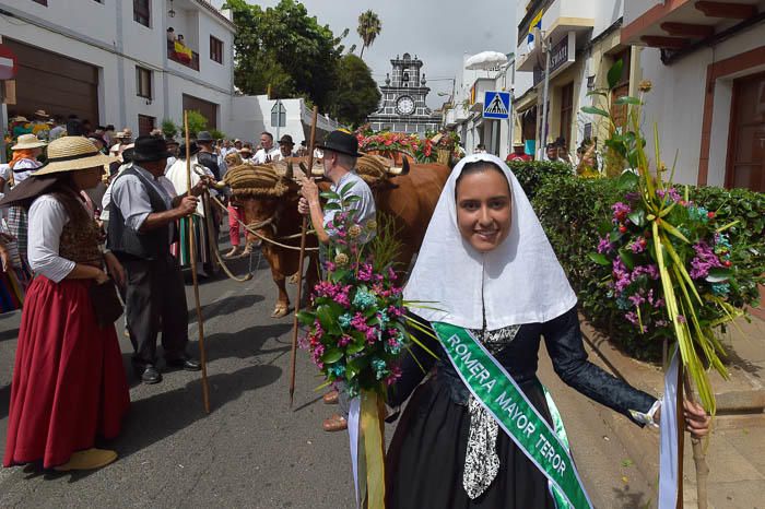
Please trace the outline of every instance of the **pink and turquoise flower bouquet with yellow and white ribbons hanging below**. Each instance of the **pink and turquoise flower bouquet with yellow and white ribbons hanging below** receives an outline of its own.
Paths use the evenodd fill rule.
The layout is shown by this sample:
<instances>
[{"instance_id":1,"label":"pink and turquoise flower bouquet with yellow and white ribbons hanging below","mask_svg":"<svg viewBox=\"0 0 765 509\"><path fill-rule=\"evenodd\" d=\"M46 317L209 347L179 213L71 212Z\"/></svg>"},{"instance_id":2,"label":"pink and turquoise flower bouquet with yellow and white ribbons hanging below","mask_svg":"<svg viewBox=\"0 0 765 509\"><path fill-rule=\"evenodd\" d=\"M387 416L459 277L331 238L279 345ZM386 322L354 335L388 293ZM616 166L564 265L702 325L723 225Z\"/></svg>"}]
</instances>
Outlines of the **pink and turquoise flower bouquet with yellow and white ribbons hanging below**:
<instances>
[{"instance_id":1,"label":"pink and turquoise flower bouquet with yellow and white ribbons hanging below","mask_svg":"<svg viewBox=\"0 0 765 509\"><path fill-rule=\"evenodd\" d=\"M358 199L345 197L348 191L346 186L339 193L322 193L329 200L326 206L336 211L327 225L332 240L322 261L322 281L298 318L308 329L302 346L325 378L321 387L341 386L351 398L349 434L357 500L381 508L385 398L388 386L401 376L401 355L416 340L404 327L392 228L384 225L384 235L376 236L376 222L361 224L350 208Z\"/></svg>"}]
</instances>

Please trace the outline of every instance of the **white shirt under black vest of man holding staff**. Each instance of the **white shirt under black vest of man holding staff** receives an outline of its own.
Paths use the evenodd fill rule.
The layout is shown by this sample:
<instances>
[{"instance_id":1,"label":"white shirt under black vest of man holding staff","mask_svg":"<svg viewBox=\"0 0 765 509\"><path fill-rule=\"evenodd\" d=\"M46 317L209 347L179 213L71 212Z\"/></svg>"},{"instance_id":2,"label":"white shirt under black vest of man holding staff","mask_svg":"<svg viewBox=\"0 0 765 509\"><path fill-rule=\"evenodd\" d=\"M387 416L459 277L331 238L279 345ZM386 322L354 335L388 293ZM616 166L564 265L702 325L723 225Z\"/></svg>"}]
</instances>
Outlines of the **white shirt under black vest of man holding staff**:
<instances>
[{"instance_id":1,"label":"white shirt under black vest of man holding staff","mask_svg":"<svg viewBox=\"0 0 765 509\"><path fill-rule=\"evenodd\" d=\"M167 209L172 208L173 199L162 182L154 178L148 170L138 165L133 165L141 177L136 175L121 175L110 186L111 201L119 208L125 217L125 225L138 232L143 226L149 214L154 213L149 201L149 194L144 190L144 185L150 185L160 193Z\"/></svg>"}]
</instances>

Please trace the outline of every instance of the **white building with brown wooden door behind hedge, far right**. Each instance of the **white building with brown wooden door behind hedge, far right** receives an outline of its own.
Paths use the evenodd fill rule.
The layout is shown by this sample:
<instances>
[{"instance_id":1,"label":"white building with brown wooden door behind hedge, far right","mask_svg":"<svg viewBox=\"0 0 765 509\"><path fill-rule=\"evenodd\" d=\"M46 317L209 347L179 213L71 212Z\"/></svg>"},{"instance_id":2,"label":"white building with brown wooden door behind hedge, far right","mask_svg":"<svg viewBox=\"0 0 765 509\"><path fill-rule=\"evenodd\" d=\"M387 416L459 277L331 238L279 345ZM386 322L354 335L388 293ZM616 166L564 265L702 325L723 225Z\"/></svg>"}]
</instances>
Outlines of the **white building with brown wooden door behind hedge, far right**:
<instances>
[{"instance_id":1,"label":"white building with brown wooden door behind hedge, far right","mask_svg":"<svg viewBox=\"0 0 765 509\"><path fill-rule=\"evenodd\" d=\"M765 192L765 2L629 0L621 39L645 46L646 118L679 180Z\"/></svg>"}]
</instances>

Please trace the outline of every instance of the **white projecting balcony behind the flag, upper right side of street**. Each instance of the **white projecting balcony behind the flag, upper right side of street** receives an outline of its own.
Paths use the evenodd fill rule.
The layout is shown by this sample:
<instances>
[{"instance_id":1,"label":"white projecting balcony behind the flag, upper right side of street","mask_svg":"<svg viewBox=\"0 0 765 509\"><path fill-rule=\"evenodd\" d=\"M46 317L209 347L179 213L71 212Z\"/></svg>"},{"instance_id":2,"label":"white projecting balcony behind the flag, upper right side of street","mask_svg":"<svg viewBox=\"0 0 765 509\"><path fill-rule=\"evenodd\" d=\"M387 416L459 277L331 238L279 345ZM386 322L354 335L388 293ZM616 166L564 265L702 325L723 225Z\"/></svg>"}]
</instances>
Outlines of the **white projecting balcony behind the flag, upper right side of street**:
<instances>
[{"instance_id":1,"label":"white projecting balcony behind the flag, upper right side of street","mask_svg":"<svg viewBox=\"0 0 765 509\"><path fill-rule=\"evenodd\" d=\"M516 59L516 70L531 72L534 67L543 62L542 45L539 39L540 32L552 45L557 45L568 37L569 32L575 35L588 32L595 26L595 10L597 2L582 2L580 0L555 0L544 11L541 27L536 29L526 28L527 33L518 45L519 56ZM519 26L522 29L522 26ZM534 44L528 44L529 31L534 36ZM520 34L519 34L520 35Z\"/></svg>"}]
</instances>

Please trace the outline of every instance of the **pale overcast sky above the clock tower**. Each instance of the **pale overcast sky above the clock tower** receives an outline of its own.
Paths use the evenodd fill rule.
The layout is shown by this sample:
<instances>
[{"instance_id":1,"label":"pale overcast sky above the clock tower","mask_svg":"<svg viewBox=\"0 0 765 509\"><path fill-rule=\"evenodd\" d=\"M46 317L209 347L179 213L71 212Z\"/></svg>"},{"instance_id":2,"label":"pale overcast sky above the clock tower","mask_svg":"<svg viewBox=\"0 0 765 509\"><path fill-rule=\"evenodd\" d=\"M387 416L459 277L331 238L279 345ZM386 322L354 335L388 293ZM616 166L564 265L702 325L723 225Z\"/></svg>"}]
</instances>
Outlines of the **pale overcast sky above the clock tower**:
<instances>
[{"instance_id":1,"label":"pale overcast sky above the clock tower","mask_svg":"<svg viewBox=\"0 0 765 509\"><path fill-rule=\"evenodd\" d=\"M261 0L273 7L279 0ZM356 34L358 14L372 9L380 17L382 32L372 47L364 50L364 60L372 68L378 84L390 71L390 59L409 52L424 62L431 94L428 105L440 107L445 97L437 92L451 91L451 79L459 74L463 54L484 50L513 51L515 4L508 0L303 0L309 15L328 24L336 35L350 28L345 47L361 39ZM480 5L480 7L479 7Z\"/></svg>"}]
</instances>

